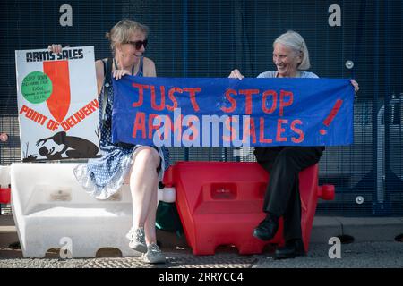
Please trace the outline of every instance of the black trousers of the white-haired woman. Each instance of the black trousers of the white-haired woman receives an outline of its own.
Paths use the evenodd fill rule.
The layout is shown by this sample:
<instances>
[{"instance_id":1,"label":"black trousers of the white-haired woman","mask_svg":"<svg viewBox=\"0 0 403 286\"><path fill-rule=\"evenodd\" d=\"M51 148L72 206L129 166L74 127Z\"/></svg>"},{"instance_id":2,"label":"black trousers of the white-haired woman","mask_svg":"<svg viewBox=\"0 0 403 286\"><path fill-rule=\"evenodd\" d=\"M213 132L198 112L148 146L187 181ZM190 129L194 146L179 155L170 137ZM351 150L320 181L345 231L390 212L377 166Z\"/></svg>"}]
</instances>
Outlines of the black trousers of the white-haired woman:
<instances>
[{"instance_id":1,"label":"black trousers of the white-haired woman","mask_svg":"<svg viewBox=\"0 0 403 286\"><path fill-rule=\"evenodd\" d=\"M255 147L259 164L270 172L263 212L283 216L284 239L302 239L298 173L319 162L324 147Z\"/></svg>"}]
</instances>

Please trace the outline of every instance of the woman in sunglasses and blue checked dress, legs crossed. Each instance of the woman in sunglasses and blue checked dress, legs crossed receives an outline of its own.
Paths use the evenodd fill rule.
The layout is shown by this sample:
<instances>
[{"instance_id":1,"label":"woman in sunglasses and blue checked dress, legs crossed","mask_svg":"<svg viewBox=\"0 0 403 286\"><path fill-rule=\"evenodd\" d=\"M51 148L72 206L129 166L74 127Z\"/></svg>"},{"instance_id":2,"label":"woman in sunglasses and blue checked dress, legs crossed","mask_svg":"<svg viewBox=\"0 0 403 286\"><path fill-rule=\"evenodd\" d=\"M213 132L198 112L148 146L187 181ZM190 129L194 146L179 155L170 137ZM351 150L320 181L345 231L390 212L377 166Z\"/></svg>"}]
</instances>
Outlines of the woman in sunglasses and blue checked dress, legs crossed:
<instances>
[{"instance_id":1,"label":"woman in sunglasses and blue checked dress, legs crossed","mask_svg":"<svg viewBox=\"0 0 403 286\"><path fill-rule=\"evenodd\" d=\"M80 164L74 174L81 186L98 199L114 195L128 182L133 199L133 227L126 237L129 247L141 252L147 263L165 263L157 245L156 213L158 184L168 167L167 147L111 143L113 86L111 76L120 80L125 75L157 76L154 63L143 56L149 29L141 23L119 21L109 33L112 57L96 61L99 92L100 149L102 157ZM60 45L49 46L60 53Z\"/></svg>"}]
</instances>

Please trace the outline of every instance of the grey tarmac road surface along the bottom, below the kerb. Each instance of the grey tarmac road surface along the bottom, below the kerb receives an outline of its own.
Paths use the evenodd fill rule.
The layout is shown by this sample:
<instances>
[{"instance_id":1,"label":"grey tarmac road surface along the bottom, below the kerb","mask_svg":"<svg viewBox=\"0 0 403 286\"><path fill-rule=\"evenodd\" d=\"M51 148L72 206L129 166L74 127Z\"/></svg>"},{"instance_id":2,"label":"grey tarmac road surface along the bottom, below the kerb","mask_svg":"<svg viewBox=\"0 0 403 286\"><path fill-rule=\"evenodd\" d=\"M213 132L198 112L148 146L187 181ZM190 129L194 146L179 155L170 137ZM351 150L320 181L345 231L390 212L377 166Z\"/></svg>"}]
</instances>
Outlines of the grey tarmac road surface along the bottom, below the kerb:
<instances>
[{"instance_id":1,"label":"grey tarmac road surface along the bottom, below the kerb","mask_svg":"<svg viewBox=\"0 0 403 286\"><path fill-rule=\"evenodd\" d=\"M333 247L333 248L332 248ZM332 248L330 250L330 248ZM221 248L214 256L193 256L189 248L163 249L165 265L147 265L140 257L107 257L88 259L60 259L58 253L47 258L22 258L21 250L0 250L0 268L403 268L403 242L353 242L341 244L339 258L334 245L311 244L306 257L276 260L273 249L262 255L240 256L233 248Z\"/></svg>"}]
</instances>

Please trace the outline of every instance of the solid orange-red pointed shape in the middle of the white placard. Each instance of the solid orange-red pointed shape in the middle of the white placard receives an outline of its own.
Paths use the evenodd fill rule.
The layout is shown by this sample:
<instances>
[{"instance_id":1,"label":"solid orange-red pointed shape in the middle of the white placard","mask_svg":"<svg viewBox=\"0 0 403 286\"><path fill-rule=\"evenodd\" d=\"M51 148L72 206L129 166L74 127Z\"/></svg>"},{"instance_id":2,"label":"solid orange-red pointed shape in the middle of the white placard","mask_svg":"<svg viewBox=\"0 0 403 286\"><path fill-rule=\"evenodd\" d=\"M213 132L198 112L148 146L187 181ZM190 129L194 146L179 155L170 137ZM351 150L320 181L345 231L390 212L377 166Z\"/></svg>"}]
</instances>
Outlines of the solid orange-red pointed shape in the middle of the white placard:
<instances>
[{"instance_id":1,"label":"solid orange-red pointed shape in the middle of the white placard","mask_svg":"<svg viewBox=\"0 0 403 286\"><path fill-rule=\"evenodd\" d=\"M47 98L47 107L57 122L63 122L70 107L69 62L44 62L43 72L53 85L52 94Z\"/></svg>"}]
</instances>

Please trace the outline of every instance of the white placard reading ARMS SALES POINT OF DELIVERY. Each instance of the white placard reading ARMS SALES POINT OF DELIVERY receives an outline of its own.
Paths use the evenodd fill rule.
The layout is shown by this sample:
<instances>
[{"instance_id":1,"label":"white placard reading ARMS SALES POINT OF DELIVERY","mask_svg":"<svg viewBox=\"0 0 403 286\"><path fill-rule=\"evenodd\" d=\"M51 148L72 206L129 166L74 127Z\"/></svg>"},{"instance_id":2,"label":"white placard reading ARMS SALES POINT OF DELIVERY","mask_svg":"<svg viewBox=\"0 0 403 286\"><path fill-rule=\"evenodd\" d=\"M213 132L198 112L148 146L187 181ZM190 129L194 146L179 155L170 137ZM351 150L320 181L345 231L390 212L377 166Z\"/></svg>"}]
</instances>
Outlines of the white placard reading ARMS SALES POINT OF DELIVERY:
<instances>
[{"instance_id":1,"label":"white placard reading ARMS SALES POINT OF DELIVERY","mask_svg":"<svg viewBox=\"0 0 403 286\"><path fill-rule=\"evenodd\" d=\"M23 162L99 155L93 46L15 51Z\"/></svg>"}]
</instances>

